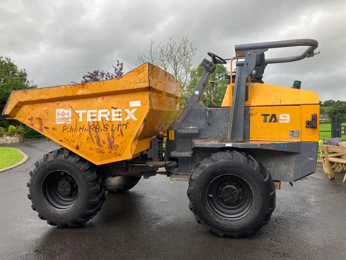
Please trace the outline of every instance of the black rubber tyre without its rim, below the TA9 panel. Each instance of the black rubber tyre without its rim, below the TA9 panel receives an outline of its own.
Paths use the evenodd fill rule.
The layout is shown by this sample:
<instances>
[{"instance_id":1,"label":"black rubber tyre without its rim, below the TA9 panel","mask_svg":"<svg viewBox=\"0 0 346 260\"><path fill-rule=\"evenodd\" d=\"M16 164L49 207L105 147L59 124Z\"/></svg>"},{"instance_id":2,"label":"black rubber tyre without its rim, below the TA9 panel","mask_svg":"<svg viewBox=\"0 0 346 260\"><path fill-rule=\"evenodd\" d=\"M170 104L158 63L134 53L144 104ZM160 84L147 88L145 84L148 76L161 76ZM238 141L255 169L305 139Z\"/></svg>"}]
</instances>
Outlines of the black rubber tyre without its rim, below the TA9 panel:
<instances>
[{"instance_id":1,"label":"black rubber tyre without its rim, below the TA9 panel","mask_svg":"<svg viewBox=\"0 0 346 260\"><path fill-rule=\"evenodd\" d=\"M208 202L209 184L223 174L239 176L251 187L252 206L240 219L218 216ZM221 237L241 238L257 233L269 222L276 203L275 185L269 172L256 159L238 151L218 151L204 158L190 176L187 194L197 223Z\"/></svg>"}]
</instances>

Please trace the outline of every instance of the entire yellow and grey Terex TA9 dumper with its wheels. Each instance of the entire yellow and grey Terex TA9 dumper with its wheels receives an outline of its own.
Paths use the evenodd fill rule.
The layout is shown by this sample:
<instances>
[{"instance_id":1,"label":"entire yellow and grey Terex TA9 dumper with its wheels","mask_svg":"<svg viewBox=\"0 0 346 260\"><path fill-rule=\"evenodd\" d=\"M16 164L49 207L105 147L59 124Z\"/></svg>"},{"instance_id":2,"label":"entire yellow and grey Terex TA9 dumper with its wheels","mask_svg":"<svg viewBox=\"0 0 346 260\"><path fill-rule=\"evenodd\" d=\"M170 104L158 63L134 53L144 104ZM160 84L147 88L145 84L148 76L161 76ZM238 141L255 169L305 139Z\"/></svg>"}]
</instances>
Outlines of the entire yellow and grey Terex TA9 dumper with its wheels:
<instances>
[{"instance_id":1,"label":"entire yellow and grey Terex TA9 dumper with its wheels","mask_svg":"<svg viewBox=\"0 0 346 260\"><path fill-rule=\"evenodd\" d=\"M268 49L293 46L308 49L265 59ZM100 210L106 191L125 192L142 176L165 174L189 180L189 207L209 232L256 233L271 218L275 188L315 172L319 141L318 94L300 81L264 84L264 69L313 57L317 47L297 39L236 45L230 59L208 53L183 109L179 82L149 63L117 79L12 92L2 115L62 147L29 173L32 208L50 225L80 226ZM216 64L227 60L236 61L236 73L222 105L202 104Z\"/></svg>"}]
</instances>

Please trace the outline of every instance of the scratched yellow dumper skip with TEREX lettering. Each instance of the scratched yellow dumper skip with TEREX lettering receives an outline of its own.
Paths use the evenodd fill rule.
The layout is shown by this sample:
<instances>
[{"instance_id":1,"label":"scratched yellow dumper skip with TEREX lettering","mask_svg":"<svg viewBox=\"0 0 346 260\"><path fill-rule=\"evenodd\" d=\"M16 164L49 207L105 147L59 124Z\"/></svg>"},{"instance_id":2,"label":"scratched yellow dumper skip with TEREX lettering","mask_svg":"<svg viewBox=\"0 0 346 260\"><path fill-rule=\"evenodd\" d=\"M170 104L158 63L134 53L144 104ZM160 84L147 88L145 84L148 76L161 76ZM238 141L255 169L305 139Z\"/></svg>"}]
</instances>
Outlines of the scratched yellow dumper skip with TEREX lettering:
<instances>
[{"instance_id":1,"label":"scratched yellow dumper skip with TEREX lettering","mask_svg":"<svg viewBox=\"0 0 346 260\"><path fill-rule=\"evenodd\" d=\"M181 97L171 74L145 63L117 79L13 91L2 115L100 165L149 149Z\"/></svg>"}]
</instances>

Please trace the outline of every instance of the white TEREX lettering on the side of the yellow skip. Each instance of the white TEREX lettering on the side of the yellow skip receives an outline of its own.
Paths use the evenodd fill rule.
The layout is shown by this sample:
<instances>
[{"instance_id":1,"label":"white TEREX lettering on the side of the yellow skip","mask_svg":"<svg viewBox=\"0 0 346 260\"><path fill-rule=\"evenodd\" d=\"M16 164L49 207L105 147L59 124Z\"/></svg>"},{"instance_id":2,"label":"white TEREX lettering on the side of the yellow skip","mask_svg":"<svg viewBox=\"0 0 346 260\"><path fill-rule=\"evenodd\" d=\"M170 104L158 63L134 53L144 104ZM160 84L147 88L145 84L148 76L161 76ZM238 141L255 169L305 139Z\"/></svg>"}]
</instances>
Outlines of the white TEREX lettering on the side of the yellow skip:
<instances>
[{"instance_id":1,"label":"white TEREX lettering on the side of the yellow skip","mask_svg":"<svg viewBox=\"0 0 346 260\"><path fill-rule=\"evenodd\" d=\"M137 109L132 109L131 111L129 109L125 109L126 117L124 120L129 120L130 118L133 120L137 120L137 118L134 116L134 113ZM112 109L109 111L108 109L101 109L101 110L75 110L76 114L79 115L79 122L82 122L83 119L86 121L102 121L102 119L105 119L107 121L122 121L123 120L123 113L121 109ZM125 115L124 115L125 116Z\"/></svg>"}]
</instances>

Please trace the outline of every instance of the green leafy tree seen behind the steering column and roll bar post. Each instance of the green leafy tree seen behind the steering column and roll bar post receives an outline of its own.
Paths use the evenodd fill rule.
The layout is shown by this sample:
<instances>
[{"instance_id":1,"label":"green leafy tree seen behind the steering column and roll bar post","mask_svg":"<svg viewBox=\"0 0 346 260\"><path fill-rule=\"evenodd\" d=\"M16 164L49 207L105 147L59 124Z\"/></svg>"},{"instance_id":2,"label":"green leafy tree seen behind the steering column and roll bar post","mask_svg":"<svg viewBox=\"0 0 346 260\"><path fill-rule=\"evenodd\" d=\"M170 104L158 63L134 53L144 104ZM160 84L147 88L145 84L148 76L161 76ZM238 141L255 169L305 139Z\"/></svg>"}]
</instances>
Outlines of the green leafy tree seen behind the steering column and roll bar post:
<instances>
[{"instance_id":1,"label":"green leafy tree seen behind the steering column and roll bar post","mask_svg":"<svg viewBox=\"0 0 346 260\"><path fill-rule=\"evenodd\" d=\"M193 90L197 86L198 81L202 77L204 72L204 69L201 65L199 65L197 68L192 69L190 73L190 80L186 87L186 95L183 96L183 99L181 101L181 106L183 107L187 101L189 100ZM208 84L206 85L206 88L204 89L204 92L200 98L200 102L202 103L202 97L205 97L207 99L207 104L212 104L212 87L210 84L210 81L215 81L214 84L214 103L217 106L221 106L222 100L224 99L226 89L227 89L227 78L225 77L227 73L227 69L222 64L217 64L216 69L214 72L210 75L210 79Z\"/></svg>"}]
</instances>

